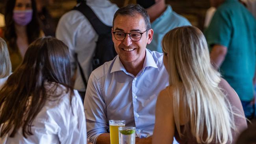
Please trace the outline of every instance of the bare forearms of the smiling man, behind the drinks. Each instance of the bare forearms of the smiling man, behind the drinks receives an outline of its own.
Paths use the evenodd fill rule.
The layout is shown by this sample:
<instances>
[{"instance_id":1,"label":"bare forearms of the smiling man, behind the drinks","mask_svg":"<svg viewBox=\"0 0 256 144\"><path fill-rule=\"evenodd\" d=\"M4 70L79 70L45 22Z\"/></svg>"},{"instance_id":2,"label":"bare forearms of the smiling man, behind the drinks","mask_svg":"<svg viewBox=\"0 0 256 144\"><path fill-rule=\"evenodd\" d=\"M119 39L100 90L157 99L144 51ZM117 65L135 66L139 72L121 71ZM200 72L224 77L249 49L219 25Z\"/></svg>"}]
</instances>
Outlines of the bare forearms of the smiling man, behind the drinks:
<instances>
[{"instance_id":1,"label":"bare forearms of the smiling man, behind the drinks","mask_svg":"<svg viewBox=\"0 0 256 144\"><path fill-rule=\"evenodd\" d=\"M148 138L135 138L135 144L151 144L152 137ZM109 133L102 133L97 138L96 144L110 144L110 135Z\"/></svg>"}]
</instances>

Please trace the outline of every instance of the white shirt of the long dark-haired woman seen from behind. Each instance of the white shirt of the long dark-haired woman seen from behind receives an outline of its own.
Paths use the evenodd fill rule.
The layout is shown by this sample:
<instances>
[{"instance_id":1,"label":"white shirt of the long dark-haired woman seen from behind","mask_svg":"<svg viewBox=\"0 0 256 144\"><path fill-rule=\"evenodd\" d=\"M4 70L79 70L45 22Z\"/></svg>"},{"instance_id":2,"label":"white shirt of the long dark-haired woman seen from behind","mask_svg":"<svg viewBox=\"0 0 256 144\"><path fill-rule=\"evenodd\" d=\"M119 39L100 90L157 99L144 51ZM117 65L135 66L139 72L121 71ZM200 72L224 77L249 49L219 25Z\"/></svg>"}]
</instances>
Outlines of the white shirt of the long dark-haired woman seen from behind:
<instances>
[{"instance_id":1,"label":"white shirt of the long dark-haired woman seen from behind","mask_svg":"<svg viewBox=\"0 0 256 144\"><path fill-rule=\"evenodd\" d=\"M55 89L53 84L46 87L47 92ZM70 105L70 94L66 93L64 86L58 85L54 92L57 94L61 94L60 99L48 100L33 120L33 135L23 137L20 128L13 138L8 135L1 137L0 144L86 144L85 114L80 95L74 90Z\"/></svg>"}]
</instances>

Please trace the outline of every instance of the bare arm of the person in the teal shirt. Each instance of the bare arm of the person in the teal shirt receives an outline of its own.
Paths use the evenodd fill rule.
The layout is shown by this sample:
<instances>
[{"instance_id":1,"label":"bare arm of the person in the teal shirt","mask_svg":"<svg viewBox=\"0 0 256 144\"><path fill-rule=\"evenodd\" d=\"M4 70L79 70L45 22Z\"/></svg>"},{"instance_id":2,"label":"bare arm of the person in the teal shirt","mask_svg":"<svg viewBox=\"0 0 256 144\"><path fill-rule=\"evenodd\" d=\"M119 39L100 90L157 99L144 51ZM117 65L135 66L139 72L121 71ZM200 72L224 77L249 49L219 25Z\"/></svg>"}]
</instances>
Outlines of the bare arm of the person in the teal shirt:
<instances>
[{"instance_id":1,"label":"bare arm of the person in the teal shirt","mask_svg":"<svg viewBox=\"0 0 256 144\"><path fill-rule=\"evenodd\" d=\"M227 47L219 44L215 44L211 50L210 58L211 63L213 64L215 69L219 69L221 64L223 63L226 53L227 53Z\"/></svg>"}]
</instances>

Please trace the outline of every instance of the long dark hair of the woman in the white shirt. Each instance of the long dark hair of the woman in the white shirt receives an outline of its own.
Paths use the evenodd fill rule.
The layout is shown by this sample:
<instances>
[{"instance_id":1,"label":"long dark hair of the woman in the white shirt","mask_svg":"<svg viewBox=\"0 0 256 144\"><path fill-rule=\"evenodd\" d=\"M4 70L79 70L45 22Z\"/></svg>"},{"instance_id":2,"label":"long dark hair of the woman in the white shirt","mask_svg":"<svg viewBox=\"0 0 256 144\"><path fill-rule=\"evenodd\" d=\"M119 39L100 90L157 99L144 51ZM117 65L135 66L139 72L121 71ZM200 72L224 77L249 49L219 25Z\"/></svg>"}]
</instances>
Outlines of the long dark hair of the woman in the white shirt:
<instances>
[{"instance_id":1,"label":"long dark hair of the woman in the white shirt","mask_svg":"<svg viewBox=\"0 0 256 144\"><path fill-rule=\"evenodd\" d=\"M48 90L46 83L53 83L54 87ZM52 97L60 100L61 94L54 93L59 85L65 87L63 92L70 93L71 104L74 91L70 87L68 47L52 37L37 39L30 44L22 64L0 90L0 125L4 124L0 137L11 130L10 137L14 137L20 127L24 137L33 135L32 122L46 100Z\"/></svg>"}]
</instances>

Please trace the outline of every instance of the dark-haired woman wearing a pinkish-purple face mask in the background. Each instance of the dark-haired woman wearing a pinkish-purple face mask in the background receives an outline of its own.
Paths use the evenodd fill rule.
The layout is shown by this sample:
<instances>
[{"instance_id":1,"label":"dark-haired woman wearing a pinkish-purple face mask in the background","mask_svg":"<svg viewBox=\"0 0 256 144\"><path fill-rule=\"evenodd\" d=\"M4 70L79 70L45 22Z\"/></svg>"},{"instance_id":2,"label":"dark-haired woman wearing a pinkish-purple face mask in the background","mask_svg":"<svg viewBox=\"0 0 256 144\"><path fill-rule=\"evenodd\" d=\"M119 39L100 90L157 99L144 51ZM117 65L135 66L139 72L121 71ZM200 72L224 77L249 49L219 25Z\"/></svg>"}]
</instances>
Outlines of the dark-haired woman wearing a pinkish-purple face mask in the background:
<instances>
[{"instance_id":1,"label":"dark-haired woman wearing a pinkish-purple face mask in the background","mask_svg":"<svg viewBox=\"0 0 256 144\"><path fill-rule=\"evenodd\" d=\"M44 34L39 26L34 0L7 0L5 21L0 37L8 45L14 71L22 62L28 45Z\"/></svg>"}]
</instances>

